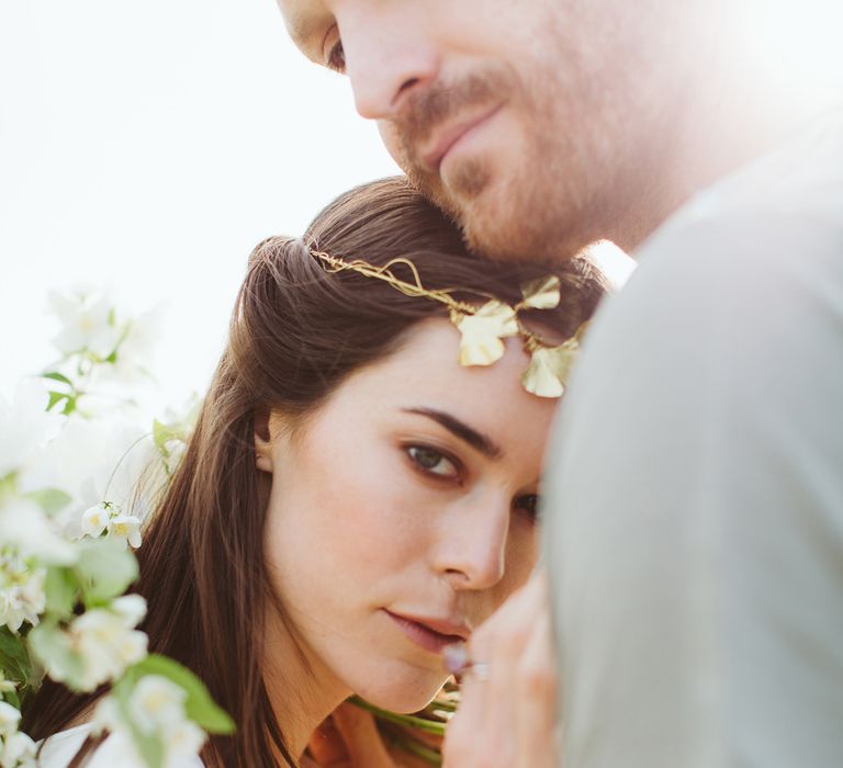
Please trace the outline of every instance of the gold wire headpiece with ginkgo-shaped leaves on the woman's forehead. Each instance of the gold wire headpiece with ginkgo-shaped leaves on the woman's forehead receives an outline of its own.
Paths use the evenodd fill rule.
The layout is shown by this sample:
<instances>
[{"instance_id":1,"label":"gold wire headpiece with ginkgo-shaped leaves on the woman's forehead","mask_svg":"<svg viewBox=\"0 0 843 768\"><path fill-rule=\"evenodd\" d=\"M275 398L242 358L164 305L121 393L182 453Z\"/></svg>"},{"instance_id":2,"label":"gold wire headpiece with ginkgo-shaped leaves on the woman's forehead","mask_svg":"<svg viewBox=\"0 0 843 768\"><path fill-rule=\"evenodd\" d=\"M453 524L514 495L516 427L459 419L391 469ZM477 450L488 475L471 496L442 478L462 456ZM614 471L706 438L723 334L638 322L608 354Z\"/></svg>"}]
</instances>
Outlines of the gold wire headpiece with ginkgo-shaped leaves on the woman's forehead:
<instances>
[{"instance_id":1,"label":"gold wire headpiece with ginkgo-shaped leaves on the woman's forehead","mask_svg":"<svg viewBox=\"0 0 843 768\"><path fill-rule=\"evenodd\" d=\"M491 365L504 354L502 339L520 336L524 339L524 348L530 353L530 364L521 376L524 388L539 397L560 397L565 391L569 372L576 360L580 340L587 324L581 325L574 336L554 347L529 330L518 317L522 309L553 309L559 306L560 282L557 275L539 278L521 285L521 301L513 306L479 291L456 287L426 289L422 284L416 266L403 257L392 259L383 267L375 267L362 259L346 261L324 251L311 251L311 256L322 261L328 272L351 270L367 278L382 280L407 296L419 296L445 304L449 309L451 323L460 331L460 365ZM395 275L392 268L396 264L409 270L412 282ZM474 293L487 301L475 306L456 300L452 295L454 293Z\"/></svg>"}]
</instances>

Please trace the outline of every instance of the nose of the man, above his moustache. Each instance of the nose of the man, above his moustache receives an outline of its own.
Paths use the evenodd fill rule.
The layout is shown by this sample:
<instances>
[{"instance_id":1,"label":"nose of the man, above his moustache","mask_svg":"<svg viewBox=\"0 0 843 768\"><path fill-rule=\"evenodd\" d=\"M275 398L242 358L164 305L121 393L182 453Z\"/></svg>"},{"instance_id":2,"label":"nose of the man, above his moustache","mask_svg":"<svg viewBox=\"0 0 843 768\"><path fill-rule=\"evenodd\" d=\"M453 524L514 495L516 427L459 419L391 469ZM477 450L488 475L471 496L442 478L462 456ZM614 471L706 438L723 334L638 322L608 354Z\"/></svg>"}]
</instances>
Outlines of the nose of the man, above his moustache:
<instances>
[{"instance_id":1,"label":"nose of the man, above his moustache","mask_svg":"<svg viewBox=\"0 0 843 768\"><path fill-rule=\"evenodd\" d=\"M370 120L394 120L409 95L439 74L436 42L419 12L425 3L395 5L395 11L379 14L376 23L353 9L340 19L346 74L357 111Z\"/></svg>"}]
</instances>

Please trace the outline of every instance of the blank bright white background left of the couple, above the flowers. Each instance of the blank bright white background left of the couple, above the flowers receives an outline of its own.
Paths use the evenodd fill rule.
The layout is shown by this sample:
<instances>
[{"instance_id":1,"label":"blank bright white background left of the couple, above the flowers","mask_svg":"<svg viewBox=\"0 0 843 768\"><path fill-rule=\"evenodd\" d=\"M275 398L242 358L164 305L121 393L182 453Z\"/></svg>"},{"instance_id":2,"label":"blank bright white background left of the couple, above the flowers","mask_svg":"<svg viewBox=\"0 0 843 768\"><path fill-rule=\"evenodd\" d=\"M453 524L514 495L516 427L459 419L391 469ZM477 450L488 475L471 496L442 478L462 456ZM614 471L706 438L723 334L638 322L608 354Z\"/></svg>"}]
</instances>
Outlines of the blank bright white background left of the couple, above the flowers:
<instances>
[{"instance_id":1,"label":"blank bright white background left of the couple, above the flowers","mask_svg":"<svg viewBox=\"0 0 843 768\"><path fill-rule=\"evenodd\" d=\"M0 0L0 394L79 284L164 303L156 376L204 389L252 246L395 172L273 0Z\"/></svg>"}]
</instances>

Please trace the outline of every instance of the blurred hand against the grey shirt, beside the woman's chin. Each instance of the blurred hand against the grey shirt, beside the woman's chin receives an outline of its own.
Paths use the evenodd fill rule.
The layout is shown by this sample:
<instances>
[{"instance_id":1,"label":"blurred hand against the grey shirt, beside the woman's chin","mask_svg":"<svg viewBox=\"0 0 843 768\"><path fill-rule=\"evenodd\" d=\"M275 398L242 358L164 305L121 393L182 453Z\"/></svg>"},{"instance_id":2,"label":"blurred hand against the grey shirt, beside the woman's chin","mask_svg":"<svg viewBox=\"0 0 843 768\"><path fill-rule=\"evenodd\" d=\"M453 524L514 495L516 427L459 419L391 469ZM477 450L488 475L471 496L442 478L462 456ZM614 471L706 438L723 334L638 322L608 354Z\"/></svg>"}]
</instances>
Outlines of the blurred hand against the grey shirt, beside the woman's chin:
<instances>
[{"instance_id":1,"label":"blurred hand against the grey shirt, beside the woman's chin","mask_svg":"<svg viewBox=\"0 0 843 768\"><path fill-rule=\"evenodd\" d=\"M445 768L555 768L557 675L547 580L533 577L472 635Z\"/></svg>"}]
</instances>

